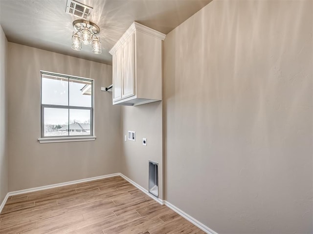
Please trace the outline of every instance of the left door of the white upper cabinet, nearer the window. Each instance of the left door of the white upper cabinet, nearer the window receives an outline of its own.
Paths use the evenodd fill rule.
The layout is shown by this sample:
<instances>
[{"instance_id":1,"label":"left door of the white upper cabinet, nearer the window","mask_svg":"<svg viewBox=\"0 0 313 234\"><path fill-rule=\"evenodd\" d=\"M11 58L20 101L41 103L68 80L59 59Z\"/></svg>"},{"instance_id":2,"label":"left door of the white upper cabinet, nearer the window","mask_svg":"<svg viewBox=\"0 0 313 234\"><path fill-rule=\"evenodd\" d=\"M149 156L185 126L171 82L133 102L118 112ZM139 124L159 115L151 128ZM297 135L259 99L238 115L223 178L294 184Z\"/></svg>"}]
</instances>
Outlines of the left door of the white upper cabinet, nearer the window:
<instances>
[{"instance_id":1,"label":"left door of the white upper cabinet, nearer the window","mask_svg":"<svg viewBox=\"0 0 313 234\"><path fill-rule=\"evenodd\" d=\"M113 101L122 98L122 69L123 69L123 56L122 48L120 47L112 56L113 65Z\"/></svg>"}]
</instances>

